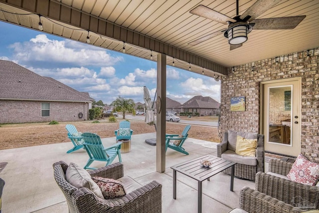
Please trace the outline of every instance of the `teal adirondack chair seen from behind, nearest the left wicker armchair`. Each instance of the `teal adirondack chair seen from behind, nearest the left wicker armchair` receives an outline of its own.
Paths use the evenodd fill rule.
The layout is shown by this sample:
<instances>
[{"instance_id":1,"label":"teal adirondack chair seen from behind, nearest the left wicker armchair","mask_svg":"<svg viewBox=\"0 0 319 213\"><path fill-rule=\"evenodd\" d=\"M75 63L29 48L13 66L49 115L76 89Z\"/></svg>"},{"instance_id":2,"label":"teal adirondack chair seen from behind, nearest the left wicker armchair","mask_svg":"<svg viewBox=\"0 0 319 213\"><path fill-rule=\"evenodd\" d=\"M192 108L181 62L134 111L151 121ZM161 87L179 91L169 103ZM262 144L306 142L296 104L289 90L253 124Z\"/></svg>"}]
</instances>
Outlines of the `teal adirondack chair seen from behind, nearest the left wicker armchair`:
<instances>
[{"instance_id":1,"label":"teal adirondack chair seen from behind, nearest the left wicker armchair","mask_svg":"<svg viewBox=\"0 0 319 213\"><path fill-rule=\"evenodd\" d=\"M85 132L82 134L82 138L84 140L83 146L89 155L89 160L84 169L96 169L89 167L93 161L104 161L106 162L106 166L108 166L113 162L116 156L119 156L119 161L120 163L122 162L120 152L122 142L118 142L113 146L104 148L101 138L97 134Z\"/></svg>"}]
</instances>

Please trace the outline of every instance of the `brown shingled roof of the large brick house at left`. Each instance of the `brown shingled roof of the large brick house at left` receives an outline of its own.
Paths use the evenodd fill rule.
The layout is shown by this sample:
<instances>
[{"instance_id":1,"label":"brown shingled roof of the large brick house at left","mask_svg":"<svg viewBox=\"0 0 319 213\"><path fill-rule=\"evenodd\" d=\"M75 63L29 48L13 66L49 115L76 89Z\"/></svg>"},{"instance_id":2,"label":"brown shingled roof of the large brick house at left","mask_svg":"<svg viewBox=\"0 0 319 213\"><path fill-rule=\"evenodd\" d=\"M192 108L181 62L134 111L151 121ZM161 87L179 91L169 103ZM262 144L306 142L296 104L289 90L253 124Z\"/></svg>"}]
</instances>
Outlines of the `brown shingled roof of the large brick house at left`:
<instances>
[{"instance_id":1,"label":"brown shingled roof of the large brick house at left","mask_svg":"<svg viewBox=\"0 0 319 213\"><path fill-rule=\"evenodd\" d=\"M42 77L16 63L0 60L0 99L34 101L88 102L88 93L61 82Z\"/></svg>"}]
</instances>

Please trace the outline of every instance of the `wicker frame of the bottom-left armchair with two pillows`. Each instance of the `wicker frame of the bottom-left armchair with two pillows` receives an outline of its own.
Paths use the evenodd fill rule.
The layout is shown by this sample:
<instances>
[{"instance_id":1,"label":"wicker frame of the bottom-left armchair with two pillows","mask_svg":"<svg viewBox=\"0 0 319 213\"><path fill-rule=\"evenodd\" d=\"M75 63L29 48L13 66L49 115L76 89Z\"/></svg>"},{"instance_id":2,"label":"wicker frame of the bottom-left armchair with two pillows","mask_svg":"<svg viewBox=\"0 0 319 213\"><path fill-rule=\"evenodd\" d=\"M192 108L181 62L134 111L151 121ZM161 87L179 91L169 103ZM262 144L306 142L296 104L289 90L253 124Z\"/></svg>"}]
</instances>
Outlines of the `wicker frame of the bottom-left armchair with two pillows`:
<instances>
[{"instance_id":1,"label":"wicker frame of the bottom-left armchair with two pillows","mask_svg":"<svg viewBox=\"0 0 319 213\"><path fill-rule=\"evenodd\" d=\"M68 165L53 164L54 178L63 192L69 213L161 213L161 185L153 181L117 199L103 200L87 188L76 188L65 180ZM89 171L92 177L119 179L124 176L123 164L115 163Z\"/></svg>"}]
</instances>

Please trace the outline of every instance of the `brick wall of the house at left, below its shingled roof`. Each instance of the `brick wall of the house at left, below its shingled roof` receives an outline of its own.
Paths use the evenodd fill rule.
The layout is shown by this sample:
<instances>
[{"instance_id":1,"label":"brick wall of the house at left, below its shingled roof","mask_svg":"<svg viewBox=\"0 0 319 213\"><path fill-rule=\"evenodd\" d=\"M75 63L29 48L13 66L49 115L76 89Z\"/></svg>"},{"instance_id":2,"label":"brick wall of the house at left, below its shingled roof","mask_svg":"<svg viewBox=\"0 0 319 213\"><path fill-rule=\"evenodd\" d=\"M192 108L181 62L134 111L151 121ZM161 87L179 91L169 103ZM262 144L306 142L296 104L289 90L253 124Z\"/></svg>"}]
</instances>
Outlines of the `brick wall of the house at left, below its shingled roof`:
<instances>
[{"instance_id":1,"label":"brick wall of the house at left, below its shingled roof","mask_svg":"<svg viewBox=\"0 0 319 213\"><path fill-rule=\"evenodd\" d=\"M50 117L41 117L41 103L50 103ZM82 118L78 116L80 112L83 113ZM84 119L88 119L87 103L0 100L0 123L2 124Z\"/></svg>"}]
</instances>

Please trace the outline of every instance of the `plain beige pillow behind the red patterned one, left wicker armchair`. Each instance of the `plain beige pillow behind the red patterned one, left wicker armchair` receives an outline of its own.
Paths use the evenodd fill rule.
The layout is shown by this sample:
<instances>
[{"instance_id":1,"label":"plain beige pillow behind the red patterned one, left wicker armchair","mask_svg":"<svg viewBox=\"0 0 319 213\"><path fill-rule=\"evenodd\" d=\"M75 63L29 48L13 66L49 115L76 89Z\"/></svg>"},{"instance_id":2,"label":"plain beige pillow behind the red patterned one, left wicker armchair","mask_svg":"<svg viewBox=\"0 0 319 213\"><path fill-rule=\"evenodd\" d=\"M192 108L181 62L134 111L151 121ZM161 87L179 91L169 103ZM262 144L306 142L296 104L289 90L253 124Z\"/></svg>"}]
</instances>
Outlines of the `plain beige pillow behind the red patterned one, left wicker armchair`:
<instances>
[{"instance_id":1,"label":"plain beige pillow behind the red patterned one, left wicker armchair","mask_svg":"<svg viewBox=\"0 0 319 213\"><path fill-rule=\"evenodd\" d=\"M99 186L91 179L91 175L83 168L74 163L70 163L65 173L66 181L72 186L80 188L88 188L97 197L104 199Z\"/></svg>"}]
</instances>

